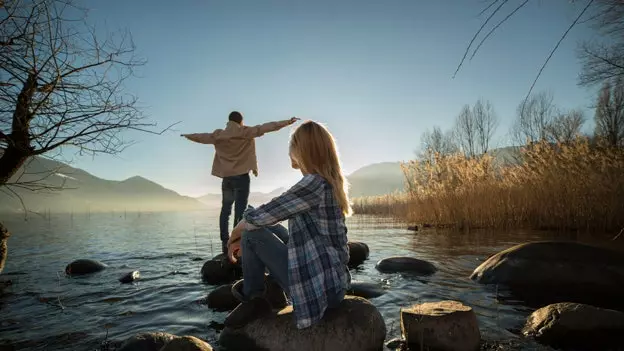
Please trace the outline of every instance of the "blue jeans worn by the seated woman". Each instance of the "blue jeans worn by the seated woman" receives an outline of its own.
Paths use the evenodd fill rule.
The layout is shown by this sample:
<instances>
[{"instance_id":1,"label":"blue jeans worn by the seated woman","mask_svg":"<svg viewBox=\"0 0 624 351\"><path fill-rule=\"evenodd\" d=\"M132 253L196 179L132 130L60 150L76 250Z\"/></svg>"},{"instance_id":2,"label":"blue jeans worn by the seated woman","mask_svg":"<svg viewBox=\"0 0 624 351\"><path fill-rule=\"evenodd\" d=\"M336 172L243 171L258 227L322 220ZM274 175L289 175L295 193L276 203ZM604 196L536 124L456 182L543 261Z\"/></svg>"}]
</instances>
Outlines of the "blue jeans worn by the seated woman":
<instances>
[{"instance_id":1,"label":"blue jeans worn by the seated woman","mask_svg":"<svg viewBox=\"0 0 624 351\"><path fill-rule=\"evenodd\" d=\"M243 231L241 238L243 266L243 297L262 297L265 289L265 270L290 297L288 282L288 229L277 224L252 231ZM328 307L334 308L343 300L346 291L327 292Z\"/></svg>"}]
</instances>

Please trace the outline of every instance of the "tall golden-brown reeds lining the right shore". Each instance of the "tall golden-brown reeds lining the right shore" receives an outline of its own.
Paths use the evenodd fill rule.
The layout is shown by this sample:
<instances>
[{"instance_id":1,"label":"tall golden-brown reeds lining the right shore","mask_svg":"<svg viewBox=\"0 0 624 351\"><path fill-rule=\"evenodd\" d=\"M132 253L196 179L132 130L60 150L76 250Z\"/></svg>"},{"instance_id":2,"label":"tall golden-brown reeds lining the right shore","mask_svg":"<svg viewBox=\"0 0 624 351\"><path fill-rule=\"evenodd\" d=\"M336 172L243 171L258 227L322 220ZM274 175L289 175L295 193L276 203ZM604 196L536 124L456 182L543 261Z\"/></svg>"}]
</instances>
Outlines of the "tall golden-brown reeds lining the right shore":
<instances>
[{"instance_id":1,"label":"tall golden-brown reeds lining the right shore","mask_svg":"<svg viewBox=\"0 0 624 351\"><path fill-rule=\"evenodd\" d=\"M356 199L357 213L470 228L617 232L624 227L624 150L538 143L516 164L489 155L435 156L402 165L406 191Z\"/></svg>"}]
</instances>

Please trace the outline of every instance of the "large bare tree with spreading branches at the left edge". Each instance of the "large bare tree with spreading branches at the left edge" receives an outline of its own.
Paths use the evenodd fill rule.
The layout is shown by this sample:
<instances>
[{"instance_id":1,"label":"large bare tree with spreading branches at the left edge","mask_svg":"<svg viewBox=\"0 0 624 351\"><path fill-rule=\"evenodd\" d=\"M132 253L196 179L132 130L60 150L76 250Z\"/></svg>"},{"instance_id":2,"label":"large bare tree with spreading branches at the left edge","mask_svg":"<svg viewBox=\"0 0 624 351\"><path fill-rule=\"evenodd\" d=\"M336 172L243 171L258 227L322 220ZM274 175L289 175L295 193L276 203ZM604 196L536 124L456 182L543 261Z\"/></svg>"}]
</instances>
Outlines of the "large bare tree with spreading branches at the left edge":
<instances>
[{"instance_id":1,"label":"large bare tree with spreading branches at the left edge","mask_svg":"<svg viewBox=\"0 0 624 351\"><path fill-rule=\"evenodd\" d=\"M129 145L120 132L152 132L154 124L123 85L144 63L128 33L98 37L72 0L6 1L0 8L0 187L10 189L12 176L33 156L66 147L116 154Z\"/></svg>"}]
</instances>

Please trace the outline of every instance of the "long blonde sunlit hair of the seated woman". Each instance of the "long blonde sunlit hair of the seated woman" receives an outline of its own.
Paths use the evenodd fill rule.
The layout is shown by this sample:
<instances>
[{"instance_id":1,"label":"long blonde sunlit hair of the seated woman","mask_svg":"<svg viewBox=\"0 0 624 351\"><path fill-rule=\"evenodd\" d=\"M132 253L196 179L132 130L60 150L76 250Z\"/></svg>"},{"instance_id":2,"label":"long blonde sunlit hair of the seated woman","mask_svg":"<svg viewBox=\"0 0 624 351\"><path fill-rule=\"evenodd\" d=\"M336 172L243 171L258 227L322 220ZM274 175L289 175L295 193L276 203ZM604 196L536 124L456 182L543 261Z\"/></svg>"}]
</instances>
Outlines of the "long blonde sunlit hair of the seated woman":
<instances>
[{"instance_id":1,"label":"long blonde sunlit hair of the seated woman","mask_svg":"<svg viewBox=\"0 0 624 351\"><path fill-rule=\"evenodd\" d=\"M345 216L352 214L347 195L349 183L342 174L334 137L325 126L306 121L297 127L290 137L290 156L304 173L325 178L334 190L342 213Z\"/></svg>"}]
</instances>

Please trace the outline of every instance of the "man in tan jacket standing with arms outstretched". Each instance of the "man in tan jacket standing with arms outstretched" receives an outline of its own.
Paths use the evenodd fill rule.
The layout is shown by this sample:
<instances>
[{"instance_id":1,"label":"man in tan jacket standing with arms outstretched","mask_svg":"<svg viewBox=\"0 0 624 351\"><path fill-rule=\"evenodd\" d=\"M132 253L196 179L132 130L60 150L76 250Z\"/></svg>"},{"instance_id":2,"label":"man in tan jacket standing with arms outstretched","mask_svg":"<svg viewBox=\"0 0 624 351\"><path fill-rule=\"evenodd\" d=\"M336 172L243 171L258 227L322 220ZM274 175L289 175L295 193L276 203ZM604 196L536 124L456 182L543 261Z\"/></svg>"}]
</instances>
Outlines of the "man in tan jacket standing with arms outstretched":
<instances>
[{"instance_id":1,"label":"man in tan jacket standing with arms outstretched","mask_svg":"<svg viewBox=\"0 0 624 351\"><path fill-rule=\"evenodd\" d=\"M249 172L258 176L255 138L280 130L298 120L299 118L293 117L248 127L243 124L243 115L238 111L232 111L225 129L216 129L212 133L182 134L183 137L196 143L215 146L212 175L222 179L219 230L223 253L228 252L227 242L230 238L228 224L232 205L235 205L234 227L236 227L249 200Z\"/></svg>"}]
</instances>

